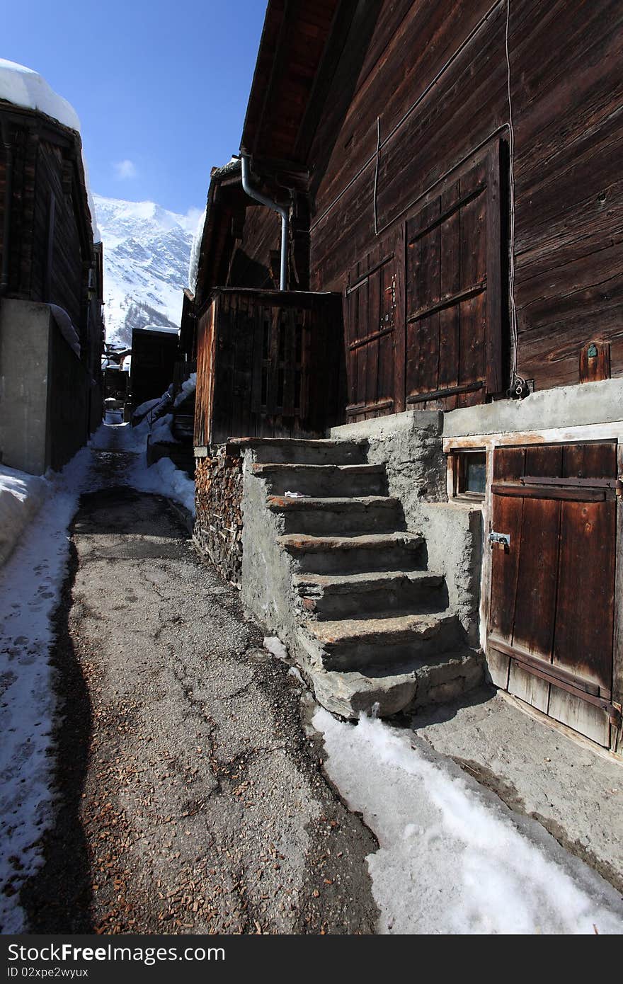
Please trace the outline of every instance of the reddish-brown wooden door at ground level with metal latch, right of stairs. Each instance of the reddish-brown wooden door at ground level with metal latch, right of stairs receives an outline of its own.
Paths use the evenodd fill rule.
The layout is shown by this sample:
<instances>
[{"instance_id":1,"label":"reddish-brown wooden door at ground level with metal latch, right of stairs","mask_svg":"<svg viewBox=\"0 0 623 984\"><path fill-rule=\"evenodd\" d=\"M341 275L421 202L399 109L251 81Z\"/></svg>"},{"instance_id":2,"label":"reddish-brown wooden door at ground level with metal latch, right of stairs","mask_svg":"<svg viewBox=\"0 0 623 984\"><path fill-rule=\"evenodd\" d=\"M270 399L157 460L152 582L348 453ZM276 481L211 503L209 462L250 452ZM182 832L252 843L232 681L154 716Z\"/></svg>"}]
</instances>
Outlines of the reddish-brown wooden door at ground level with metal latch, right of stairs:
<instances>
[{"instance_id":1,"label":"reddish-brown wooden door at ground level with metal latch, right of stairs","mask_svg":"<svg viewBox=\"0 0 623 984\"><path fill-rule=\"evenodd\" d=\"M607 442L497 449L493 459L494 678L604 746L617 718L616 456Z\"/></svg>"}]
</instances>

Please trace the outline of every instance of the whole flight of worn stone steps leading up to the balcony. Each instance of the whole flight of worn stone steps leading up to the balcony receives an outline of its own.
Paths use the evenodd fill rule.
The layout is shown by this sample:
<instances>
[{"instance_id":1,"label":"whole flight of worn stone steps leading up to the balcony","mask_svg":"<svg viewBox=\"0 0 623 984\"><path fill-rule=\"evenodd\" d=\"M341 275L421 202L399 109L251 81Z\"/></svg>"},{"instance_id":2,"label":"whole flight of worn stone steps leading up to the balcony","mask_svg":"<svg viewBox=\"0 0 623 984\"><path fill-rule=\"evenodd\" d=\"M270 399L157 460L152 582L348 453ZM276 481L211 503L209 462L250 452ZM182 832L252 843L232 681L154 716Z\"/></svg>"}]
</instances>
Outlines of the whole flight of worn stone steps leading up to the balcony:
<instances>
[{"instance_id":1,"label":"whole flight of worn stone steps leading up to the balcony","mask_svg":"<svg viewBox=\"0 0 623 984\"><path fill-rule=\"evenodd\" d=\"M375 705L387 716L476 686L481 657L366 445L265 439L251 450L289 567L282 632L320 703L344 717Z\"/></svg>"}]
</instances>

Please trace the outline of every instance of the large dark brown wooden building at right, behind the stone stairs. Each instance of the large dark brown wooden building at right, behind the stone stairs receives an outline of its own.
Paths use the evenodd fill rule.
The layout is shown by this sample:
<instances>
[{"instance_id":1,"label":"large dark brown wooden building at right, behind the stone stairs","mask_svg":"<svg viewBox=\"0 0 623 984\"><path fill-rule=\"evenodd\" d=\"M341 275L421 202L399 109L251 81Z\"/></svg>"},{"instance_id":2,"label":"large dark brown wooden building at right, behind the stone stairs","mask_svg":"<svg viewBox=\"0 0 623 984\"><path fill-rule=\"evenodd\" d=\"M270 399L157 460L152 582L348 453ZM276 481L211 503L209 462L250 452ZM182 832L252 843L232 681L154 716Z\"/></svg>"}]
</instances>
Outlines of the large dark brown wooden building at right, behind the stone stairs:
<instances>
[{"instance_id":1,"label":"large dark brown wooden building at right, behind the stone stairs","mask_svg":"<svg viewBox=\"0 0 623 984\"><path fill-rule=\"evenodd\" d=\"M481 516L490 677L608 747L623 698L622 41L611 0L270 0L241 141L289 216L283 303L341 298L340 351L325 345L312 370L338 405L316 393L305 433L372 447L405 414L409 427L443 414L445 515ZM235 165L213 175L198 406L236 403L232 377L228 395L218 383L214 308L202 343L208 305L253 321L256 301L233 300L250 288L279 305L279 251L279 216ZM200 452L287 434L279 401L269 409L272 431L230 415L196 433ZM400 489L407 523L423 522Z\"/></svg>"}]
</instances>

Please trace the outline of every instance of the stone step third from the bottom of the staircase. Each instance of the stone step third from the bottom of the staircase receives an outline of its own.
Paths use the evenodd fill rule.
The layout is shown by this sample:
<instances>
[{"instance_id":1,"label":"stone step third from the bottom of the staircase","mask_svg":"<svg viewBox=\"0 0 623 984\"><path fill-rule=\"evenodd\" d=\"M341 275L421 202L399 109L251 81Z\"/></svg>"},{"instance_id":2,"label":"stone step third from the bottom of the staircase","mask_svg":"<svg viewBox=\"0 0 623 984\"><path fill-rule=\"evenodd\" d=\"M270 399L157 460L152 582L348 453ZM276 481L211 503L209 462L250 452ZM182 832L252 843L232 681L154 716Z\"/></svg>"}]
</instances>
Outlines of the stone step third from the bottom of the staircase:
<instances>
[{"instance_id":1,"label":"stone step third from the bottom of the staircase","mask_svg":"<svg viewBox=\"0 0 623 984\"><path fill-rule=\"evenodd\" d=\"M422 614L442 611L448 604L443 575L429 571L299 574L294 585L304 608L323 620Z\"/></svg>"}]
</instances>

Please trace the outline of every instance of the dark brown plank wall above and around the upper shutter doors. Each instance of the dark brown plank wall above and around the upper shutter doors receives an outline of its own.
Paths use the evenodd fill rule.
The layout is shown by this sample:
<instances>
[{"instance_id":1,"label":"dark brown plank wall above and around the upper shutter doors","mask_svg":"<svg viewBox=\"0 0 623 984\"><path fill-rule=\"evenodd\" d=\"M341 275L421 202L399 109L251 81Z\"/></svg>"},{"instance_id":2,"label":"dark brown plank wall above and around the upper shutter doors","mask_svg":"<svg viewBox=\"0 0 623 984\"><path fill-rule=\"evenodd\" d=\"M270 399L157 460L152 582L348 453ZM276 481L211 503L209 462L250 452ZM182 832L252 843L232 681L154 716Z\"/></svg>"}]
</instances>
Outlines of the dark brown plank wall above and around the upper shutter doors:
<instances>
[{"instance_id":1,"label":"dark brown plank wall above and around the upper shutter doors","mask_svg":"<svg viewBox=\"0 0 623 984\"><path fill-rule=\"evenodd\" d=\"M348 38L308 161L312 290L344 293L349 271L434 201L453 168L492 135L501 142L508 244L506 18L506 0L385 0L363 60ZM593 340L609 343L611 374L623 375L622 44L618 0L510 0L518 372L537 390L578 383L581 351ZM358 74L344 115L349 62ZM320 172L316 162L327 159ZM278 224L254 211L245 252L268 266ZM502 287L503 393L510 343Z\"/></svg>"}]
</instances>

